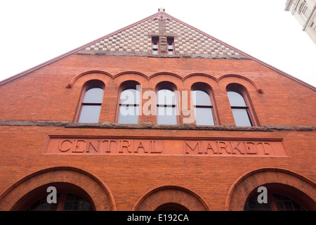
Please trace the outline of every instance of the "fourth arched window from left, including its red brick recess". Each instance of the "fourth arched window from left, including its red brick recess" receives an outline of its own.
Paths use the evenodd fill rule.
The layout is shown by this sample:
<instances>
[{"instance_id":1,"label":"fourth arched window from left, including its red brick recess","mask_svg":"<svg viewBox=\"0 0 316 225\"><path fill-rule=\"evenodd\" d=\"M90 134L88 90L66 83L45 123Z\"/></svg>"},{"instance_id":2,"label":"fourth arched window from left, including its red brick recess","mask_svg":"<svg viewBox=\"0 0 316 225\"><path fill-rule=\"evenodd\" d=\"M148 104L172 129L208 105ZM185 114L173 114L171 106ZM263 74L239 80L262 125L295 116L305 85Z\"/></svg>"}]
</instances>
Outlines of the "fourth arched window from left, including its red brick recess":
<instances>
[{"instance_id":1,"label":"fourth arched window from left, including its red brick recess","mask_svg":"<svg viewBox=\"0 0 316 225\"><path fill-rule=\"evenodd\" d=\"M215 125L216 113L214 111L211 87L196 83L192 85L192 103L195 108L195 123L197 125Z\"/></svg>"}]
</instances>

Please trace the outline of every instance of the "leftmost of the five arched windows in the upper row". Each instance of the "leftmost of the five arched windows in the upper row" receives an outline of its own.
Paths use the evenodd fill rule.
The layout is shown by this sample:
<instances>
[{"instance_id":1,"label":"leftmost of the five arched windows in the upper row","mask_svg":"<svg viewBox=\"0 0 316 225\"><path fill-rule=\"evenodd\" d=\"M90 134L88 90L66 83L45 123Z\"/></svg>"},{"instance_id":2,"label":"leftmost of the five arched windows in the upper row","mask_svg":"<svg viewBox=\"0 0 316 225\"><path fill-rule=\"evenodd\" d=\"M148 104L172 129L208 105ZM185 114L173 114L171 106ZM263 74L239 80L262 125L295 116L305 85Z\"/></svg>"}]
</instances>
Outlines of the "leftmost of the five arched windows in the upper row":
<instances>
[{"instance_id":1,"label":"leftmost of the five arched windows in the upper row","mask_svg":"<svg viewBox=\"0 0 316 225\"><path fill-rule=\"evenodd\" d=\"M103 101L104 86L94 82L84 89L84 97L81 101L78 122L99 122L101 105Z\"/></svg>"}]
</instances>

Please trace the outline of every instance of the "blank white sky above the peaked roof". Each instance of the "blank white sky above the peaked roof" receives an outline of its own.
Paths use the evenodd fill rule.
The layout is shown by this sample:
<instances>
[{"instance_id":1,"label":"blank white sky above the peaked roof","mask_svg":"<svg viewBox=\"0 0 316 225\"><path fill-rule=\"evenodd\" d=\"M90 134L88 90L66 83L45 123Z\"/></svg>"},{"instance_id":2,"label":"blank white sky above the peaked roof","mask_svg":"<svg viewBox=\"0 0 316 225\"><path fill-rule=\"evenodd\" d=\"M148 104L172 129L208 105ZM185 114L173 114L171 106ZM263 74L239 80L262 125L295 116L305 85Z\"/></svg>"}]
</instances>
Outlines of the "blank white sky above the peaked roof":
<instances>
[{"instance_id":1,"label":"blank white sky above the peaked roof","mask_svg":"<svg viewBox=\"0 0 316 225\"><path fill-rule=\"evenodd\" d=\"M0 0L0 81L166 8L166 13L316 86L316 45L286 0Z\"/></svg>"}]
</instances>

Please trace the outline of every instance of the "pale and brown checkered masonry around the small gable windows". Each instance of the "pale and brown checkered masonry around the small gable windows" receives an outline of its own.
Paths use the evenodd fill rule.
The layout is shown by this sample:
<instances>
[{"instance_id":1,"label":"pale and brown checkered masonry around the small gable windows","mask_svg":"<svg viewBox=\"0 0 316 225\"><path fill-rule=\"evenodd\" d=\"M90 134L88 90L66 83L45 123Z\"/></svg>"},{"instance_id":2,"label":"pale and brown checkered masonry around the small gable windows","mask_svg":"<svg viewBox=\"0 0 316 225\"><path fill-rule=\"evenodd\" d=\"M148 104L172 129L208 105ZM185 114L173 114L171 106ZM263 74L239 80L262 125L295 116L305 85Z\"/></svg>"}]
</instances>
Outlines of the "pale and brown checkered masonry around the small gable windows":
<instances>
[{"instance_id":1,"label":"pale and brown checkered masonry around the small gable windows","mask_svg":"<svg viewBox=\"0 0 316 225\"><path fill-rule=\"evenodd\" d=\"M86 52L152 52L152 34L164 35L174 38L176 56L183 55L216 55L239 56L234 49L225 46L210 36L181 23L180 20L170 18L166 13L154 15L147 20L142 20L126 30L117 32L110 37L86 46Z\"/></svg>"}]
</instances>

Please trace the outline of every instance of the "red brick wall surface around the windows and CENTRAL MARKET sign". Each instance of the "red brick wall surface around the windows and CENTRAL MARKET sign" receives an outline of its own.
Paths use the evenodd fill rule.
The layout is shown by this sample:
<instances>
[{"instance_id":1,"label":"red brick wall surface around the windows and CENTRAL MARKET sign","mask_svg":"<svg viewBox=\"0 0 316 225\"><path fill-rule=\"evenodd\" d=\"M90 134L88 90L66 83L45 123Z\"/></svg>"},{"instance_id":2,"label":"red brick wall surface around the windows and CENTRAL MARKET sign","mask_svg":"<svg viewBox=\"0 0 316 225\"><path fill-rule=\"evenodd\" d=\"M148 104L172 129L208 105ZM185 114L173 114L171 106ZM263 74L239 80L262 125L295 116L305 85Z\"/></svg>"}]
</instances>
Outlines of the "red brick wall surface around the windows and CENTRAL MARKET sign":
<instances>
[{"instance_id":1,"label":"red brick wall surface around the windows and CENTRAL MARKET sign","mask_svg":"<svg viewBox=\"0 0 316 225\"><path fill-rule=\"evenodd\" d=\"M100 122L115 122L119 86L126 80L136 80L143 90L154 90L159 82L169 81L179 91L190 91L195 82L206 82L213 89L219 125L235 124L225 88L238 83L246 87L261 126L275 129L105 129L12 122L73 122L82 86L90 79L105 83ZM71 82L71 88L66 88ZM106 184L117 210L132 210L145 193L161 186L187 188L203 198L211 210L224 210L232 184L246 172L282 168L312 182L316 179L315 89L253 60L72 55L0 86L0 96L0 193L41 169L75 167ZM140 117L140 122L155 121L154 116ZM46 138L52 134L277 138L284 139L290 156L42 155Z\"/></svg>"}]
</instances>

